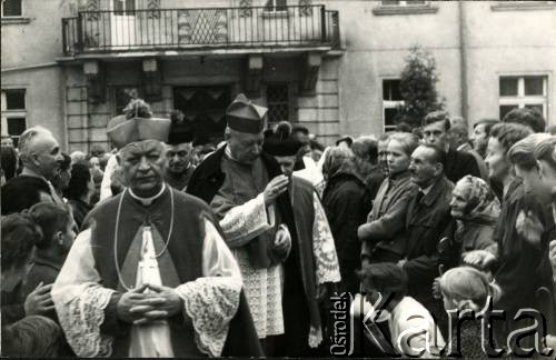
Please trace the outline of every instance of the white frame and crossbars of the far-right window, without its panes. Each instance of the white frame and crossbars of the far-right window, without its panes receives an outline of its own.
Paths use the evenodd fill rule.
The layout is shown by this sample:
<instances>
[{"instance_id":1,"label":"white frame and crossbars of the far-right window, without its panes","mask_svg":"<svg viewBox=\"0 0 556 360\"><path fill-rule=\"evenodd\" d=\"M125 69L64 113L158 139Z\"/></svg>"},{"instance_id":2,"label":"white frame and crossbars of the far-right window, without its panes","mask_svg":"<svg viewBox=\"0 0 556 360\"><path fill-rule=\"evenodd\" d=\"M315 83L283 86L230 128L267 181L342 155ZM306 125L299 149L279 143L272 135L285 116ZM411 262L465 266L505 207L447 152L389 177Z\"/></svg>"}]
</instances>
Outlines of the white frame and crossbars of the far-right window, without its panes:
<instances>
[{"instance_id":1,"label":"white frame and crossbars of the far-right window, without its panes","mask_svg":"<svg viewBox=\"0 0 556 360\"><path fill-rule=\"evenodd\" d=\"M517 79L517 94L516 96L502 96L500 81L503 78ZM543 94L542 96L527 96L525 94L525 79L526 78L542 78L543 79ZM550 108L550 77L546 72L532 72L532 73L500 73L498 74L498 116L500 116L500 107L517 106L523 109L526 106L542 106L543 117L545 121L549 122L549 108Z\"/></svg>"}]
</instances>

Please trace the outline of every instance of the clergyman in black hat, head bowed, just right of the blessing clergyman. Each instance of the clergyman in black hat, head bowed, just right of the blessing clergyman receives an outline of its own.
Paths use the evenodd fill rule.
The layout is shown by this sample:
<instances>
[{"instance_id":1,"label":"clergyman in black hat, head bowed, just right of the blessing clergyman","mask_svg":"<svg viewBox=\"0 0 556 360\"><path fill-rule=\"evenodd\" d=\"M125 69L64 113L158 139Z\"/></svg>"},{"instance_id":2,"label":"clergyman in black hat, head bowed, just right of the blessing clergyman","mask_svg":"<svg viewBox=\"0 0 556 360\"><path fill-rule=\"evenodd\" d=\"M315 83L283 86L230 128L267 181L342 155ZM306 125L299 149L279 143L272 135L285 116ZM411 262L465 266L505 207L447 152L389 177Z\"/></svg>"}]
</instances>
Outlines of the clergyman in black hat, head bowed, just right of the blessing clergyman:
<instances>
[{"instance_id":1,"label":"clergyman in black hat, head bowed, just right of the blessing clergyman","mask_svg":"<svg viewBox=\"0 0 556 360\"><path fill-rule=\"evenodd\" d=\"M310 323L308 346L316 348L322 341L322 330L326 328L327 321L321 318L321 312L329 306L326 298L331 296L331 284L340 281L340 269L332 232L325 209L320 203L318 190L310 181L294 171L298 150L302 146L302 142L290 137L289 123L282 122L274 134L265 139L262 151L274 156L284 173L290 179L289 194L299 248L305 254L304 258L308 259L304 268L304 276L307 278L304 284L309 312L299 313L295 307L285 309L286 317L290 314L297 318L299 324L297 331L286 331L285 346L297 341L292 338L302 339L305 337L301 319L308 319ZM314 356L316 353L305 351L304 354Z\"/></svg>"}]
</instances>

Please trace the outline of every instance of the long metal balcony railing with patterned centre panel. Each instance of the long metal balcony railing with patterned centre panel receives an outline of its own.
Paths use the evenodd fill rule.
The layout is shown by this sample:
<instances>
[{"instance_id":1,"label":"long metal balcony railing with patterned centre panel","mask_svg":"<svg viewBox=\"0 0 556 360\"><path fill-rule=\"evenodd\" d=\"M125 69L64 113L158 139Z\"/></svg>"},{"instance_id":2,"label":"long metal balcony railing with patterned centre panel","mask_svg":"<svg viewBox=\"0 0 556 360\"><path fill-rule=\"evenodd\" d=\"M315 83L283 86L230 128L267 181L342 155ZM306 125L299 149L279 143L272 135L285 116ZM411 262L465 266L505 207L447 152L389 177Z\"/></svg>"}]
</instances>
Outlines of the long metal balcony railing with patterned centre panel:
<instances>
[{"instance_id":1,"label":"long metal balcony railing with patterned centre panel","mask_svg":"<svg viewBox=\"0 0 556 360\"><path fill-rule=\"evenodd\" d=\"M324 6L80 11L62 31L67 56L339 43L338 11Z\"/></svg>"}]
</instances>

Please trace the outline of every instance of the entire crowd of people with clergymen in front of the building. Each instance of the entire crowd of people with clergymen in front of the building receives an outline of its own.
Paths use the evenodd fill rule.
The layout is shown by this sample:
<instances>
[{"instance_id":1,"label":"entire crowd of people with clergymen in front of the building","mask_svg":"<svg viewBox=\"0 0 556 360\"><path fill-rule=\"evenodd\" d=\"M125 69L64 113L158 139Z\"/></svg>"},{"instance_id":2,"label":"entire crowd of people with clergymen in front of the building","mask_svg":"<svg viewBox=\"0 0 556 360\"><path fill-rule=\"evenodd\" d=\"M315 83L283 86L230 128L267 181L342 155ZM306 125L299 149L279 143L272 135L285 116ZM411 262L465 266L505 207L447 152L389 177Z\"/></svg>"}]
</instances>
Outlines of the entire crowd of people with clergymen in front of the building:
<instances>
[{"instance_id":1,"label":"entire crowd of people with clergymen in front of the building","mask_svg":"<svg viewBox=\"0 0 556 360\"><path fill-rule=\"evenodd\" d=\"M224 140L199 143L182 112L135 99L108 122L111 150L67 154L39 126L2 138L2 356L329 357L346 293L353 356L556 348L540 113L469 137L434 111L328 147L266 118L239 94ZM468 311L505 320L455 321Z\"/></svg>"}]
</instances>

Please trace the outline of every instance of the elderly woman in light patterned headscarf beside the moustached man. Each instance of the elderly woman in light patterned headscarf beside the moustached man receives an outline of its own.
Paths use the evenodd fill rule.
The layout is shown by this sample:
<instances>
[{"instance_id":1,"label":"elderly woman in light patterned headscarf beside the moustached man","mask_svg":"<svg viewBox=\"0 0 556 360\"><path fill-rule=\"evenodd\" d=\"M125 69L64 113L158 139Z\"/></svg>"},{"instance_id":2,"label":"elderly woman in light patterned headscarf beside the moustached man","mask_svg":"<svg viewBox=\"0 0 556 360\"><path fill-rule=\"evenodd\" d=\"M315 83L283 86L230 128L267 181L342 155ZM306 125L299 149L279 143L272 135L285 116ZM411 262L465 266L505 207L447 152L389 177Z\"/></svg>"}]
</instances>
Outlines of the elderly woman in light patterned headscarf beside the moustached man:
<instances>
[{"instance_id":1,"label":"elderly woman in light patterned headscarf beside the moustached man","mask_svg":"<svg viewBox=\"0 0 556 360\"><path fill-rule=\"evenodd\" d=\"M451 216L456 219L456 243L466 254L473 250L496 253L493 233L500 214L500 202L488 183L476 177L461 178L451 194Z\"/></svg>"}]
</instances>

